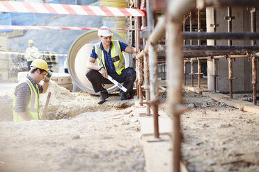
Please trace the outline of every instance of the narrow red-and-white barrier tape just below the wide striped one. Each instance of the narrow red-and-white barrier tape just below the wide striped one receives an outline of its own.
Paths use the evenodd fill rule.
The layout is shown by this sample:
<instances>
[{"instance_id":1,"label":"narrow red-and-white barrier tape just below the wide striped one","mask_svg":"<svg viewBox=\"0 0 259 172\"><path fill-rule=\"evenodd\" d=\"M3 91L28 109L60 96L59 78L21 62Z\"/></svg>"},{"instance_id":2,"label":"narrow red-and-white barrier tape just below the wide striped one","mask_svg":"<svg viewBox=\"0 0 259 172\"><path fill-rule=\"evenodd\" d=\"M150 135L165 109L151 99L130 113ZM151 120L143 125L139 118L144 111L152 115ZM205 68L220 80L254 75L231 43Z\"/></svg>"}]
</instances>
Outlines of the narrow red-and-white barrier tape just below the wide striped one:
<instances>
[{"instance_id":1,"label":"narrow red-and-white barrier tape just below the wide striped one","mask_svg":"<svg viewBox=\"0 0 259 172\"><path fill-rule=\"evenodd\" d=\"M53 30L95 30L97 31L100 28L85 28L85 27L63 27L63 26L14 26L14 25L0 25L1 29L14 29L14 30L44 30L44 29L53 29ZM141 29L135 28L101 28L102 30L123 30L123 31L142 31Z\"/></svg>"}]
</instances>

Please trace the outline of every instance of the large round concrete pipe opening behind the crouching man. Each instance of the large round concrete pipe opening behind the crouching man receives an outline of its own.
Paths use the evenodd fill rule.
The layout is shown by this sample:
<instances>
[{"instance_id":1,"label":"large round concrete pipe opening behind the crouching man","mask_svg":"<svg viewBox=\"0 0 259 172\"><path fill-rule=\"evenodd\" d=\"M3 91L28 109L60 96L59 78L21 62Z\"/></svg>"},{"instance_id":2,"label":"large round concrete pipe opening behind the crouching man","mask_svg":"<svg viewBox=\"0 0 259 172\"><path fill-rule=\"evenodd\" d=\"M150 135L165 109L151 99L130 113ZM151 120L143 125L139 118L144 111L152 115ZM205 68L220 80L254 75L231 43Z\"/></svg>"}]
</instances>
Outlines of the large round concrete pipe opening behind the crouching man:
<instances>
[{"instance_id":1,"label":"large round concrete pipe opening behind the crouching man","mask_svg":"<svg viewBox=\"0 0 259 172\"><path fill-rule=\"evenodd\" d=\"M112 32L113 40L120 40L121 42L126 42L123 37L120 37L117 33ZM100 92L95 93L92 84L86 78L88 58L91 55L93 45L100 42L97 37L97 31L89 31L80 35L77 40L72 43L70 50L68 52L68 72L73 80L74 88L78 87L84 92L90 94L98 95ZM123 52L125 68L132 67L132 55ZM97 64L97 60L95 61ZM116 85L104 85L109 93L117 91L119 88ZM78 90L73 90L78 91Z\"/></svg>"}]
</instances>

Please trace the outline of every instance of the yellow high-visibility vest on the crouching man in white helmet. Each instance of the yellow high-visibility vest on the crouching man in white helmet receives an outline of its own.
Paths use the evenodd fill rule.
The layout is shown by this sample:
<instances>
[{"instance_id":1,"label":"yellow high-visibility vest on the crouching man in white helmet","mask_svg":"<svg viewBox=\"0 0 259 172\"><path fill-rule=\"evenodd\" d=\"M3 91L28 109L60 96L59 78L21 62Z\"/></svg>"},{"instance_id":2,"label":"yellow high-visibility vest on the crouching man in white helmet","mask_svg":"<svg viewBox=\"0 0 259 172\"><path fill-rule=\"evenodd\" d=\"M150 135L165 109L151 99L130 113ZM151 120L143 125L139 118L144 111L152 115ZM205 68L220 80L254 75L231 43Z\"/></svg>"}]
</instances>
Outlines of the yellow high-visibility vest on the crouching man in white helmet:
<instances>
[{"instance_id":1,"label":"yellow high-visibility vest on the crouching man in white helmet","mask_svg":"<svg viewBox=\"0 0 259 172\"><path fill-rule=\"evenodd\" d=\"M121 71L125 69L123 65L123 52L120 50L120 43L118 40L111 40L111 60L113 61L113 65L118 75L121 74ZM105 59L104 59L104 51L100 47L101 43L95 44L95 53L98 55L97 62L100 67L104 67L105 69Z\"/></svg>"}]
</instances>

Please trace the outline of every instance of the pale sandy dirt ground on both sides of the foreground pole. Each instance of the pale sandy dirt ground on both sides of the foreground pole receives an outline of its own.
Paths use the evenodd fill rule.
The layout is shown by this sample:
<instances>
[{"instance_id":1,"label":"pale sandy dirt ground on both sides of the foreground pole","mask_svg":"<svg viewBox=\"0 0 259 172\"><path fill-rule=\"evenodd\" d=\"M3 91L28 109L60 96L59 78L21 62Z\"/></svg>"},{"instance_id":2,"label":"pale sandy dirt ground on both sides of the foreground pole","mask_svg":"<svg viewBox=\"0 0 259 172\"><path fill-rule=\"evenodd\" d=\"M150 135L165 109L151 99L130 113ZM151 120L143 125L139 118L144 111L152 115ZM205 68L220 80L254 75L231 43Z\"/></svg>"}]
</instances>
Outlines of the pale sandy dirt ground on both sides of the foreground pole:
<instances>
[{"instance_id":1,"label":"pale sandy dirt ground on both sides of the foreground pole","mask_svg":"<svg viewBox=\"0 0 259 172\"><path fill-rule=\"evenodd\" d=\"M98 96L55 83L49 91L47 117L59 120L21 123L10 121L12 92L0 92L0 171L146 171L134 101L114 94L97 105ZM189 171L259 171L258 114L194 92L185 91L184 101L182 162Z\"/></svg>"}]
</instances>

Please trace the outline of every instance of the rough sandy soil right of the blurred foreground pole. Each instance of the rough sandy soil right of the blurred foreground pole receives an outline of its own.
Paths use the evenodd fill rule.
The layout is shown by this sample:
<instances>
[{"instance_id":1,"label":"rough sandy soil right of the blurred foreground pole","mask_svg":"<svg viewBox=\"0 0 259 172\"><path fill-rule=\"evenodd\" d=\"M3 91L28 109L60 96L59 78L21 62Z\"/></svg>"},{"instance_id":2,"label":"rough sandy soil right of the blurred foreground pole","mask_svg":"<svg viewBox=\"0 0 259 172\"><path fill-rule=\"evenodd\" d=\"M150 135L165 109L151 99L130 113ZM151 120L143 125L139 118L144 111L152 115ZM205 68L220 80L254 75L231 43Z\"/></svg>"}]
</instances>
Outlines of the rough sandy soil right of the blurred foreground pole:
<instances>
[{"instance_id":1,"label":"rough sandy soil right of the blurred foreground pole","mask_svg":"<svg viewBox=\"0 0 259 172\"><path fill-rule=\"evenodd\" d=\"M181 116L182 159L189 171L259 171L259 117L193 92ZM193 106L194 105L194 106Z\"/></svg>"}]
</instances>

